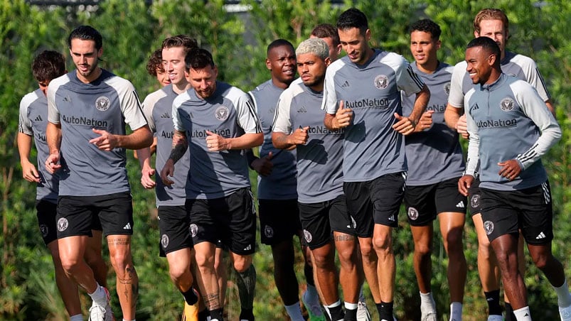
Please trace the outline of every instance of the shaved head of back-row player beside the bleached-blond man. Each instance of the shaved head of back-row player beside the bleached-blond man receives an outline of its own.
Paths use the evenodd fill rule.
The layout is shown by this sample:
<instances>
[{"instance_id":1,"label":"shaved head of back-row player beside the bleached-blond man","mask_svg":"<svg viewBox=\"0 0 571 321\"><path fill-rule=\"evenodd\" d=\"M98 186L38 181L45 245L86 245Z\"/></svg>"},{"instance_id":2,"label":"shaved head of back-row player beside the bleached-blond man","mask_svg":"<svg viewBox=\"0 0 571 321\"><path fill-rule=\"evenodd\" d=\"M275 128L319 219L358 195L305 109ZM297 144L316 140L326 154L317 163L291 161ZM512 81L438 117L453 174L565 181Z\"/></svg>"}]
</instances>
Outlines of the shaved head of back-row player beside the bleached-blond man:
<instances>
[{"instance_id":1,"label":"shaved head of back-row player beside the bleached-blond man","mask_svg":"<svg viewBox=\"0 0 571 321\"><path fill-rule=\"evenodd\" d=\"M279 45L270 49L266 67L272 73L272 80L278 87L288 87L295 79L295 53L289 45Z\"/></svg>"}]
</instances>

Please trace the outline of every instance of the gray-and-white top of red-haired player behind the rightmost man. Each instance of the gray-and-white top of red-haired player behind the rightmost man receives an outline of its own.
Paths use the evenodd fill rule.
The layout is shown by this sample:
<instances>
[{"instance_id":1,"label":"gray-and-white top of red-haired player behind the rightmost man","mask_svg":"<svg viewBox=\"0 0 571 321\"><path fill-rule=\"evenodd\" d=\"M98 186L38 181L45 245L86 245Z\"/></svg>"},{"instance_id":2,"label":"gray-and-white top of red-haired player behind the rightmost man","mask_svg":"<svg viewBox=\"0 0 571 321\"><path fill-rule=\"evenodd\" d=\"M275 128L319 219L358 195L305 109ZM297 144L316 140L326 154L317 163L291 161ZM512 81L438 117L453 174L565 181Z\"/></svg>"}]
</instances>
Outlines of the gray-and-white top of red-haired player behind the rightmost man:
<instances>
[{"instance_id":1,"label":"gray-and-white top of red-haired player behind the rightmost man","mask_svg":"<svg viewBox=\"0 0 571 321\"><path fill-rule=\"evenodd\" d=\"M515 76L532 85L544 102L547 102L548 99L550 99L543 77L541 77L538 67L535 65L535 61L533 61L533 59L525 55L506 51L506 57L501 60L500 64L501 71L504 74ZM466 61L461 61L454 66L452 82L450 84L450 96L448 99L448 103L452 107L463 108L464 95L474 87L474 84L466 71L466 65Z\"/></svg>"}]
</instances>

